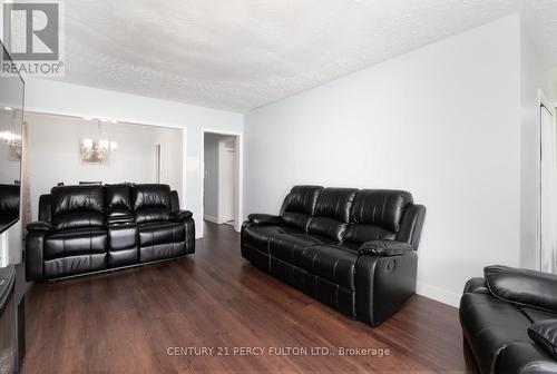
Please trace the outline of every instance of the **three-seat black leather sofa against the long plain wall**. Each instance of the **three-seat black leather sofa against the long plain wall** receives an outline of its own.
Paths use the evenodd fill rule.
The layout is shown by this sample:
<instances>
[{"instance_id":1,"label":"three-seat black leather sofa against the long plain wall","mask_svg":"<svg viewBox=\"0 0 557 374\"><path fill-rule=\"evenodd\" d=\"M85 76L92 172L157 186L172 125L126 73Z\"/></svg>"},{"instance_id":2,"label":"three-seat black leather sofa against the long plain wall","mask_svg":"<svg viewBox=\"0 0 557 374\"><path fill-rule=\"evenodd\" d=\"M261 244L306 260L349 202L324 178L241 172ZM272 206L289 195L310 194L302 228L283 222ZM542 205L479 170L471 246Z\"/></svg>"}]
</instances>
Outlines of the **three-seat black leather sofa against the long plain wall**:
<instances>
[{"instance_id":1,"label":"three-seat black leather sofa against the long plain wall","mask_svg":"<svg viewBox=\"0 0 557 374\"><path fill-rule=\"evenodd\" d=\"M278 216L252 214L242 256L370 325L416 292L426 208L399 190L295 186Z\"/></svg>"}]
</instances>

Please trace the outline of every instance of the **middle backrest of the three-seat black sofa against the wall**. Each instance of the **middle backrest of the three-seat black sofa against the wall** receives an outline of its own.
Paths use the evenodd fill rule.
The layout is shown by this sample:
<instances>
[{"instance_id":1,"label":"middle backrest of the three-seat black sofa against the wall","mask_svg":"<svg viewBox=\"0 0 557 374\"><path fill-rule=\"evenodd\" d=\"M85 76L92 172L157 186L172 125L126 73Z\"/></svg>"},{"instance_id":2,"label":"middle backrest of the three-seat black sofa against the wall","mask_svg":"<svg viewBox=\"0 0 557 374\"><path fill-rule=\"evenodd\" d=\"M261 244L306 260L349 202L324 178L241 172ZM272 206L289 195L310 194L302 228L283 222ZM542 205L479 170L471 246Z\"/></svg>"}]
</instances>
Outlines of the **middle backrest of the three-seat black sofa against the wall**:
<instances>
[{"instance_id":1,"label":"middle backrest of the three-seat black sofa against the wall","mask_svg":"<svg viewBox=\"0 0 557 374\"><path fill-rule=\"evenodd\" d=\"M315 204L315 211L307 226L307 233L342 242L356 193L355 188L323 189Z\"/></svg>"}]
</instances>

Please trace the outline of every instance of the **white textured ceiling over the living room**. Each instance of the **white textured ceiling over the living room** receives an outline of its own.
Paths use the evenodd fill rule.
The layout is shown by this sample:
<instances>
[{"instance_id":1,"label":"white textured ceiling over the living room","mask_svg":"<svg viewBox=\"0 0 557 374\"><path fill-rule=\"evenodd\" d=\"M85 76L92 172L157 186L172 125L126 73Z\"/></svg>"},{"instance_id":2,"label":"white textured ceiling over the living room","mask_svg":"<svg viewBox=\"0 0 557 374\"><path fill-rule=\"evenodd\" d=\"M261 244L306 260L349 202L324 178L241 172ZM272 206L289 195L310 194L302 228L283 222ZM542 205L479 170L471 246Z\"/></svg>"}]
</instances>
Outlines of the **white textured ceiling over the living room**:
<instances>
[{"instance_id":1,"label":"white textured ceiling over the living room","mask_svg":"<svg viewBox=\"0 0 557 374\"><path fill-rule=\"evenodd\" d=\"M248 111L522 10L557 61L555 0L65 1L67 82ZM549 42L551 41L551 42Z\"/></svg>"}]
</instances>

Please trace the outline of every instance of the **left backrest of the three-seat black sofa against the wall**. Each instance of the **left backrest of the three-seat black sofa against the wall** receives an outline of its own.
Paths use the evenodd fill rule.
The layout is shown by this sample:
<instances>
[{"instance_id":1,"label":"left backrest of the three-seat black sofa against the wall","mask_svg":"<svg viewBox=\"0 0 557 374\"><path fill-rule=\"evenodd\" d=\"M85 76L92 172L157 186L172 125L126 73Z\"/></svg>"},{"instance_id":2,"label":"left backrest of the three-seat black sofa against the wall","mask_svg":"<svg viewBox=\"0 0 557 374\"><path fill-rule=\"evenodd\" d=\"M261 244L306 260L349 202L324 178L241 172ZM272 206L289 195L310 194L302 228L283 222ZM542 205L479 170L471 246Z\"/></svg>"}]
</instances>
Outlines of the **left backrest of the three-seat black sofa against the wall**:
<instances>
[{"instance_id":1,"label":"left backrest of the three-seat black sofa against the wall","mask_svg":"<svg viewBox=\"0 0 557 374\"><path fill-rule=\"evenodd\" d=\"M281 207L281 216L289 226L307 229L307 224L315 210L315 203L323 187L321 186L294 186L284 198Z\"/></svg>"}]
</instances>

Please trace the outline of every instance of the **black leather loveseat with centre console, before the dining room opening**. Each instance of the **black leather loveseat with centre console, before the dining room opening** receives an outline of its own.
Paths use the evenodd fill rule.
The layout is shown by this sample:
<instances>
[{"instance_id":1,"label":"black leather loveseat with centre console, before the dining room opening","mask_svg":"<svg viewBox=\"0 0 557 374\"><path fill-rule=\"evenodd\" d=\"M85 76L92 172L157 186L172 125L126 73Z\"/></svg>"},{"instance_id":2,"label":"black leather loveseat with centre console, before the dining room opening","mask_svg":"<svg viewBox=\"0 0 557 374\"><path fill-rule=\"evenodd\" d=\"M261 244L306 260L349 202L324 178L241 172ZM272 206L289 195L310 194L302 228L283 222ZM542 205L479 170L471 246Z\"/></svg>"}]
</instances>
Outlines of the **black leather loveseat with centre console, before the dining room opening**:
<instances>
[{"instance_id":1,"label":"black leather loveseat with centre console, before the dining room opening","mask_svg":"<svg viewBox=\"0 0 557 374\"><path fill-rule=\"evenodd\" d=\"M28 280L163 260L195 252L192 213L167 185L55 187L27 226Z\"/></svg>"}]
</instances>

